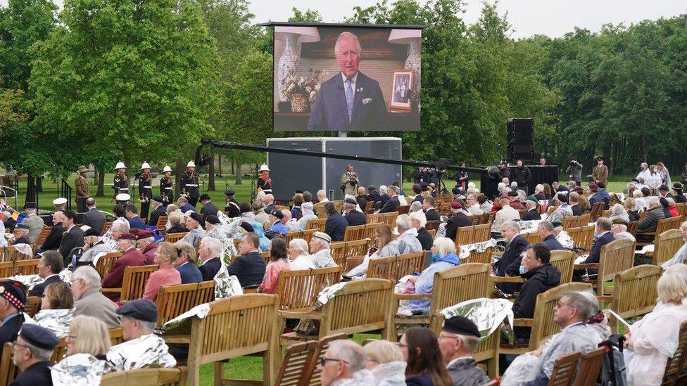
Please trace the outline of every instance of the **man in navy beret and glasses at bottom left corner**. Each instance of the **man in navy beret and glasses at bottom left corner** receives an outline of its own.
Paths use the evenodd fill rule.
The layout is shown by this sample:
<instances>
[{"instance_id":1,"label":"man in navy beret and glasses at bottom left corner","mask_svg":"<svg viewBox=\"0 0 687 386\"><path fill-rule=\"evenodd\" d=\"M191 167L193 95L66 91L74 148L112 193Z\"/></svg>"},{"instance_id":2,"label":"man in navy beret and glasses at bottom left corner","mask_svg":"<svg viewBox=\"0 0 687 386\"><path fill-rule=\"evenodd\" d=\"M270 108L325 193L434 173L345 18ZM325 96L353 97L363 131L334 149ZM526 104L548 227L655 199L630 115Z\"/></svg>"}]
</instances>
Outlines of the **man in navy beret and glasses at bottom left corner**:
<instances>
[{"instance_id":1,"label":"man in navy beret and glasses at bottom left corner","mask_svg":"<svg viewBox=\"0 0 687 386\"><path fill-rule=\"evenodd\" d=\"M47 328L28 323L22 326L12 356L12 361L22 373L10 385L52 385L50 357L59 344L58 337Z\"/></svg>"}]
</instances>

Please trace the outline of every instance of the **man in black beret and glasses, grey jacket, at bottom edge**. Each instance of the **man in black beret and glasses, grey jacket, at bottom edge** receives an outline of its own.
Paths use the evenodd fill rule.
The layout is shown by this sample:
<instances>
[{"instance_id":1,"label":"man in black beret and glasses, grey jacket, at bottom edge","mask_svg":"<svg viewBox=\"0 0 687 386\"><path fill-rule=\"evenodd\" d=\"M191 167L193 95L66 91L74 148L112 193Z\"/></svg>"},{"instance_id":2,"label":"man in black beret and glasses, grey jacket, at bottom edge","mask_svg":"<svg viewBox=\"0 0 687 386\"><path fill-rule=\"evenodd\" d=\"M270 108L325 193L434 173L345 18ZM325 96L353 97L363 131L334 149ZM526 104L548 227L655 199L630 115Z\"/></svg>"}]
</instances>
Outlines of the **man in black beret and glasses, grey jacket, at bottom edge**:
<instances>
[{"instance_id":1,"label":"man in black beret and glasses, grey jacket, at bottom edge","mask_svg":"<svg viewBox=\"0 0 687 386\"><path fill-rule=\"evenodd\" d=\"M477 326L462 316L453 316L443 322L436 340L453 385L478 386L489 382L489 377L472 357L480 336Z\"/></svg>"}]
</instances>

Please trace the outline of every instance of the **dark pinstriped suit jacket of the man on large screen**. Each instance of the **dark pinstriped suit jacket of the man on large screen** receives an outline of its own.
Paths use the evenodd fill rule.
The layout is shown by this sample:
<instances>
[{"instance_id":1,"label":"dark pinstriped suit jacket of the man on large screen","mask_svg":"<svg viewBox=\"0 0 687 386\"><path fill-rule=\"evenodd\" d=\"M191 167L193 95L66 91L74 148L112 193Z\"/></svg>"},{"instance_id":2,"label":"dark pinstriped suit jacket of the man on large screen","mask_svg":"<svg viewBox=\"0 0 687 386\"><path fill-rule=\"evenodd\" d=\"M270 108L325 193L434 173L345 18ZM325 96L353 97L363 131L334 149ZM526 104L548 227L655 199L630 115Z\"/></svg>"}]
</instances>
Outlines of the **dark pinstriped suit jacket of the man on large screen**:
<instances>
[{"instance_id":1,"label":"dark pinstriped suit jacket of the man on large screen","mask_svg":"<svg viewBox=\"0 0 687 386\"><path fill-rule=\"evenodd\" d=\"M322 83L313 103L308 131L361 131L386 129L386 102L379 83L358 71L355 79L353 113L348 120L346 85L341 72Z\"/></svg>"}]
</instances>

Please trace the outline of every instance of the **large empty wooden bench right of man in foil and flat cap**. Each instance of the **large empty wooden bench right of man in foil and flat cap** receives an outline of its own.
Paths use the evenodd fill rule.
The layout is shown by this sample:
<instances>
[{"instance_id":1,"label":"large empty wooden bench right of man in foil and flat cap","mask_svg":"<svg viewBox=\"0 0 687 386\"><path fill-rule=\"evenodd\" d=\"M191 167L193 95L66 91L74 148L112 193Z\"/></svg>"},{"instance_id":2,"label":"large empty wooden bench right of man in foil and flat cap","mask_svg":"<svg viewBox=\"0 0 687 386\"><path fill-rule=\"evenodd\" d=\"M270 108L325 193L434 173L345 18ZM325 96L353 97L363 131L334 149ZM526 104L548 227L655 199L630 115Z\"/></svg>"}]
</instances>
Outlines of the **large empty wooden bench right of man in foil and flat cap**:
<instances>
[{"instance_id":1,"label":"large empty wooden bench right of man in foil and flat cap","mask_svg":"<svg viewBox=\"0 0 687 386\"><path fill-rule=\"evenodd\" d=\"M210 303L204 319L191 321L189 385L200 383L203 364L214 363L222 378L222 361L248 354L263 355L263 382L272 384L279 361L277 296L248 294ZM222 379L215 379L221 385Z\"/></svg>"}]
</instances>

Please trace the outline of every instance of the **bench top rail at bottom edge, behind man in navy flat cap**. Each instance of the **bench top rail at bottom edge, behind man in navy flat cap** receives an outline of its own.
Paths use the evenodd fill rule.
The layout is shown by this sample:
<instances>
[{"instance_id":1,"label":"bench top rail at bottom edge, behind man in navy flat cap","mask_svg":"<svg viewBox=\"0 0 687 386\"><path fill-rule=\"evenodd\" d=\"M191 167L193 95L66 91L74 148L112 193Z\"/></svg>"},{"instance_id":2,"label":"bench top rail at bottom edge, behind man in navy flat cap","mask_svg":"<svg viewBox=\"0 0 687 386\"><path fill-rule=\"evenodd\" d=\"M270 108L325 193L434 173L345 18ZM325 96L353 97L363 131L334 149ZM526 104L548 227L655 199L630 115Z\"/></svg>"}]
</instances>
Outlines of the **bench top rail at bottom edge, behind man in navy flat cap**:
<instances>
[{"instance_id":1,"label":"bench top rail at bottom edge, behind man in navy flat cap","mask_svg":"<svg viewBox=\"0 0 687 386\"><path fill-rule=\"evenodd\" d=\"M101 386L185 386L188 369L185 366L173 368L137 368L103 374Z\"/></svg>"}]
</instances>

